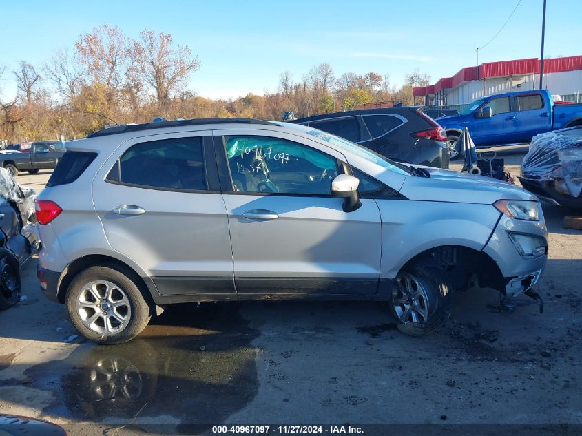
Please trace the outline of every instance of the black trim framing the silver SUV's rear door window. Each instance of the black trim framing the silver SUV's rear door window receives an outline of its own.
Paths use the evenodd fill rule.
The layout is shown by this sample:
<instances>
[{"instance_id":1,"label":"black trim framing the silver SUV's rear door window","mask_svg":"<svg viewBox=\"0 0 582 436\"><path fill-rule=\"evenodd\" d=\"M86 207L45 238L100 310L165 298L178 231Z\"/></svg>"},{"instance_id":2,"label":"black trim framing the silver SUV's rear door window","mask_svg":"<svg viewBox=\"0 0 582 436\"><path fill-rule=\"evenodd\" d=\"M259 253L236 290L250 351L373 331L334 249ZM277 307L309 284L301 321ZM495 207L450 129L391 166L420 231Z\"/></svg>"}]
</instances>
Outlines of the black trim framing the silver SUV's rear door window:
<instances>
[{"instance_id":1,"label":"black trim framing the silver SUV's rear door window","mask_svg":"<svg viewBox=\"0 0 582 436\"><path fill-rule=\"evenodd\" d=\"M140 185L140 184L136 184L136 183L127 183L127 182L122 182L121 181L121 165L119 164L119 160L121 159L121 157L127 152L127 150L131 149L132 147L136 146L136 145L140 145L143 143L149 143L149 142L154 142L154 141L165 141L165 139L153 139L152 141L142 141L142 142L137 142L134 143L132 145L130 145L129 147L125 148L123 150L123 152L121 153L121 156L119 156L113 163L113 165L111 165L109 167L109 170L107 171L107 174L105 174L105 177L103 178L103 181L105 183L110 183L112 185L119 185L119 186L127 186L127 187L134 187L134 188L140 188L140 189L149 189L151 191L168 191L168 192L184 192L184 193L189 193L189 194L220 194L220 184L218 183L218 169L216 167L216 158L214 155L214 148L212 147L212 135L211 132L206 132L207 134L205 135L194 135L194 136L172 136L171 138L165 138L167 139L180 139L180 138L201 138L202 139L202 158L204 159L203 165L204 165L204 172L205 172L205 179L206 179L206 186L207 189L180 189L180 188L169 188L169 187L158 187L158 186L149 186L149 185ZM142 138L139 138L142 139ZM212 163L215 163L215 165L212 165ZM117 165L117 169L118 169L118 179L119 180L111 180L108 179L107 176L109 176L110 172L112 171L113 167L115 167L115 165Z\"/></svg>"}]
</instances>

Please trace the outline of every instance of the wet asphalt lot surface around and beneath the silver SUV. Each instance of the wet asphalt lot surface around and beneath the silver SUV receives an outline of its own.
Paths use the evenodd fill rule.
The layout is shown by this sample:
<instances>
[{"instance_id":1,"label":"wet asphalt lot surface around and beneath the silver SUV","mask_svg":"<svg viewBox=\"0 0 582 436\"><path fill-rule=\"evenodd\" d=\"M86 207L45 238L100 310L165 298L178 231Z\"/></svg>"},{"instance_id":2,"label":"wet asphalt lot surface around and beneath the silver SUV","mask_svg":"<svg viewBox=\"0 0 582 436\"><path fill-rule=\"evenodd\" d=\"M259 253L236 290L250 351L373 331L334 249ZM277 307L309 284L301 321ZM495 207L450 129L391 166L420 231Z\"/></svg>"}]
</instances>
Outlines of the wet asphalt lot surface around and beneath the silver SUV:
<instances>
[{"instance_id":1,"label":"wet asphalt lot surface around and beneath the silver SUV","mask_svg":"<svg viewBox=\"0 0 582 436\"><path fill-rule=\"evenodd\" d=\"M525 151L499 151L514 176ZM17 180L40 190L48 176ZM526 297L500 313L499 293L470 289L423 338L399 333L380 303L245 302L168 307L136 340L97 346L41 295L33 260L21 303L0 313L0 410L70 435L218 423L582 424L582 232L562 227L563 209L543 210L543 313Z\"/></svg>"}]
</instances>

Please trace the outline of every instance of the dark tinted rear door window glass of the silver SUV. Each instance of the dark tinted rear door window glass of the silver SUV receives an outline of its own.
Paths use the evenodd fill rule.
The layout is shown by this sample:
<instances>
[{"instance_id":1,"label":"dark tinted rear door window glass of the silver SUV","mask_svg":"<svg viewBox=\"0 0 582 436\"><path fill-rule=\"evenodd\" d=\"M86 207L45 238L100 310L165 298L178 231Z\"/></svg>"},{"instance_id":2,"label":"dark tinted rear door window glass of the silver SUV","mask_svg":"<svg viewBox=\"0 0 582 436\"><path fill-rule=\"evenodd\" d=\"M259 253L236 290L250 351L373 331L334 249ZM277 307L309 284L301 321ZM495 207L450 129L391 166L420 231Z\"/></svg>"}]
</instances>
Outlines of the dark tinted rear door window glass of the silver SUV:
<instances>
[{"instance_id":1,"label":"dark tinted rear door window glass of the silver SUV","mask_svg":"<svg viewBox=\"0 0 582 436\"><path fill-rule=\"evenodd\" d=\"M207 189L202 138L173 138L132 146L107 180L157 189Z\"/></svg>"}]
</instances>

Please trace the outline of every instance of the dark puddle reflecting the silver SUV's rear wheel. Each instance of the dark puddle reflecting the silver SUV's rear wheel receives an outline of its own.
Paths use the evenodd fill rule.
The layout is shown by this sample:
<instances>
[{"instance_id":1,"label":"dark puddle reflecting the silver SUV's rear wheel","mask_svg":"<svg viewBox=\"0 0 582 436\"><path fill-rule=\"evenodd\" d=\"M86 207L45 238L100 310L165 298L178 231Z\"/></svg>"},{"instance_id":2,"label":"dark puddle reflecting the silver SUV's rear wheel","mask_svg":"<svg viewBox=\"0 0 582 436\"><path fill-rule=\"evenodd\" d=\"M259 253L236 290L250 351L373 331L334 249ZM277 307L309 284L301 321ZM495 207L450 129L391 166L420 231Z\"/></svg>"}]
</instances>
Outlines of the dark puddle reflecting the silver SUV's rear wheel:
<instances>
[{"instance_id":1,"label":"dark puddle reflecting the silver SUV's rear wheel","mask_svg":"<svg viewBox=\"0 0 582 436\"><path fill-rule=\"evenodd\" d=\"M44 410L52 415L111 423L139 414L216 424L256 395L250 343L257 336L237 304L169 307L131 342L85 342L67 359L34 366L27 375L34 387L53 391L54 402Z\"/></svg>"}]
</instances>

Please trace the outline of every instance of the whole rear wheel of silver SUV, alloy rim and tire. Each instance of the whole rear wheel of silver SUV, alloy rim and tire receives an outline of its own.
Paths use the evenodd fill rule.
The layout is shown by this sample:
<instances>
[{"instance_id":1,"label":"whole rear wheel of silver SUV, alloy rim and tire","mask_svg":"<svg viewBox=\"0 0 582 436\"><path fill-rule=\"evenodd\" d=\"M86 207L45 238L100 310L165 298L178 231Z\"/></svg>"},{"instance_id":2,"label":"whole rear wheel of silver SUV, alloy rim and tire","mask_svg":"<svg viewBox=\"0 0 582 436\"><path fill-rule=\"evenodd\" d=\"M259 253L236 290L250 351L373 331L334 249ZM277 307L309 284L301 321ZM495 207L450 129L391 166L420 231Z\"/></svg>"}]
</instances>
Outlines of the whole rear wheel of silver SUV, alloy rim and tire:
<instances>
[{"instance_id":1,"label":"whole rear wheel of silver SUV, alloy rim and tire","mask_svg":"<svg viewBox=\"0 0 582 436\"><path fill-rule=\"evenodd\" d=\"M90 267L77 275L67 292L67 309L77 330L99 344L135 338L150 319L136 282L110 267Z\"/></svg>"}]
</instances>

